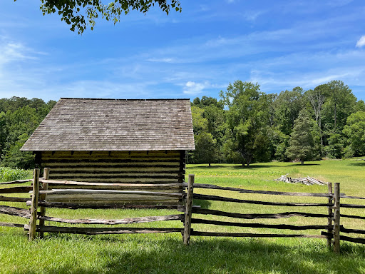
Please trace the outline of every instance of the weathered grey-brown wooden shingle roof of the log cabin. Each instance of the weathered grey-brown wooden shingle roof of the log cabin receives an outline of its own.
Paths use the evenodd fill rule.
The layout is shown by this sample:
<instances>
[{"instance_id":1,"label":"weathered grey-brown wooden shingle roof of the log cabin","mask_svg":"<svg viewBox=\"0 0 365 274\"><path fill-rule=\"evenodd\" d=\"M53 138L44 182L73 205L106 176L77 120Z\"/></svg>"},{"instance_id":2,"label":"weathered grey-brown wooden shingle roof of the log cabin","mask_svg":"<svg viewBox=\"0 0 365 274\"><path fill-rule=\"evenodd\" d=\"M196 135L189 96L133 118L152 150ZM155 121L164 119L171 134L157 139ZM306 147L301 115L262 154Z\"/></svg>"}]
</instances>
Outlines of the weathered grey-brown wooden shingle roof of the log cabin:
<instances>
[{"instance_id":1,"label":"weathered grey-brown wooden shingle roof of the log cabin","mask_svg":"<svg viewBox=\"0 0 365 274\"><path fill-rule=\"evenodd\" d=\"M61 98L21 151L191 149L189 99Z\"/></svg>"}]
</instances>

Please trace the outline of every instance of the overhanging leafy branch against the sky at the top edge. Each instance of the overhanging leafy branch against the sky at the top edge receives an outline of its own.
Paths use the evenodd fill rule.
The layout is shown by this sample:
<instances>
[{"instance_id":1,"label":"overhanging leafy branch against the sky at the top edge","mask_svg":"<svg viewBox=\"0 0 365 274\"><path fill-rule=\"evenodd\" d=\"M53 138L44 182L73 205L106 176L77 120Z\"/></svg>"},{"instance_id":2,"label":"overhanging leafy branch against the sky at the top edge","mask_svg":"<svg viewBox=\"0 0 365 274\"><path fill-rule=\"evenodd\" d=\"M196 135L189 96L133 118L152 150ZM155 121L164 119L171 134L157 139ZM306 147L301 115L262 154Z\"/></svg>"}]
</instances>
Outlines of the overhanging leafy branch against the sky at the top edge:
<instances>
[{"instance_id":1,"label":"overhanging leafy branch against the sky at the top edge","mask_svg":"<svg viewBox=\"0 0 365 274\"><path fill-rule=\"evenodd\" d=\"M57 13L61 21L71 25L71 31L77 29L78 34L83 33L86 24L93 30L98 17L115 24L121 14L127 15L133 10L146 14L152 6L159 6L166 14L170 9L181 12L178 0L112 0L109 4L102 0L41 0L43 15Z\"/></svg>"}]
</instances>

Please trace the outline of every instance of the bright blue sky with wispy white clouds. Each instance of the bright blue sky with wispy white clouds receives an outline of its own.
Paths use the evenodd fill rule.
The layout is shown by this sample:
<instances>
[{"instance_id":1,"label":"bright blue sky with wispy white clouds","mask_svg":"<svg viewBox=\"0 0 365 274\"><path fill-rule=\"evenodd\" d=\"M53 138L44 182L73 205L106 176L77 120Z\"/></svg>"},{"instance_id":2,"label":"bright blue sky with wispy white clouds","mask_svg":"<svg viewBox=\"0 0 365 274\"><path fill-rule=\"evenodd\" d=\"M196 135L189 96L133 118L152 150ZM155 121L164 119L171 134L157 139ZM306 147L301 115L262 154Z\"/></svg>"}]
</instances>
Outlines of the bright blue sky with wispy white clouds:
<instances>
[{"instance_id":1,"label":"bright blue sky with wispy white clouds","mask_svg":"<svg viewBox=\"0 0 365 274\"><path fill-rule=\"evenodd\" d=\"M181 1L78 35L39 0L2 1L0 97L218 98L342 80L365 99L365 1Z\"/></svg>"}]
</instances>

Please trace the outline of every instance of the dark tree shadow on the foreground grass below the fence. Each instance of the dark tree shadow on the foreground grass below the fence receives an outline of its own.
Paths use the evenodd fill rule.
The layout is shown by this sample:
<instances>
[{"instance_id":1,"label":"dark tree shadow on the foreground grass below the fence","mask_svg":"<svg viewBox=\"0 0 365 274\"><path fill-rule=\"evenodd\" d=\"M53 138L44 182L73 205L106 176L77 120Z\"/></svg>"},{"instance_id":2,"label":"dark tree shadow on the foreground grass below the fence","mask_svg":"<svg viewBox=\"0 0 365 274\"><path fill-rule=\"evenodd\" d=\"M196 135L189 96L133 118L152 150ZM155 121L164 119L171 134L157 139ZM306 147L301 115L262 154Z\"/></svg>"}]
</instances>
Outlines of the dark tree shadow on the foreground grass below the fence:
<instances>
[{"instance_id":1,"label":"dark tree shadow on the foreground grass below the fence","mask_svg":"<svg viewBox=\"0 0 365 274\"><path fill-rule=\"evenodd\" d=\"M324 244L287 246L250 239L152 245L123 253L101 250L99 256L108 258L108 273L364 273L365 267L364 248L349 248L350 253L339 256Z\"/></svg>"}]
</instances>

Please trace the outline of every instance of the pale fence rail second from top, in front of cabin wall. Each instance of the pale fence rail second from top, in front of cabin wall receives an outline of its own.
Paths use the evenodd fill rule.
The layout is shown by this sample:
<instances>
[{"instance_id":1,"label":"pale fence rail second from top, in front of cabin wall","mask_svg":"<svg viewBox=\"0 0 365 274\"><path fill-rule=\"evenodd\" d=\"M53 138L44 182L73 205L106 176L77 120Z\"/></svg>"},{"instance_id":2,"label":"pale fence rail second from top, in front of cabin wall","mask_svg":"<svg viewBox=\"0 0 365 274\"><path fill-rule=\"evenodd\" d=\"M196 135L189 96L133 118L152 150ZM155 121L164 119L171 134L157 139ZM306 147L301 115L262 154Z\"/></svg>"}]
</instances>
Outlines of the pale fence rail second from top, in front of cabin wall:
<instances>
[{"instance_id":1,"label":"pale fence rail second from top, in front of cabin wall","mask_svg":"<svg viewBox=\"0 0 365 274\"><path fill-rule=\"evenodd\" d=\"M29 191L33 193L33 191ZM182 197L181 193L153 192L153 191L111 191L102 189L53 189L51 191L39 191L39 194L135 194L145 196L165 196L172 198Z\"/></svg>"}]
</instances>

